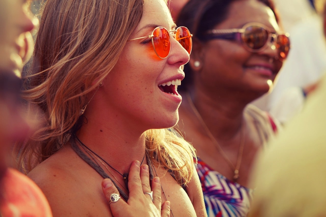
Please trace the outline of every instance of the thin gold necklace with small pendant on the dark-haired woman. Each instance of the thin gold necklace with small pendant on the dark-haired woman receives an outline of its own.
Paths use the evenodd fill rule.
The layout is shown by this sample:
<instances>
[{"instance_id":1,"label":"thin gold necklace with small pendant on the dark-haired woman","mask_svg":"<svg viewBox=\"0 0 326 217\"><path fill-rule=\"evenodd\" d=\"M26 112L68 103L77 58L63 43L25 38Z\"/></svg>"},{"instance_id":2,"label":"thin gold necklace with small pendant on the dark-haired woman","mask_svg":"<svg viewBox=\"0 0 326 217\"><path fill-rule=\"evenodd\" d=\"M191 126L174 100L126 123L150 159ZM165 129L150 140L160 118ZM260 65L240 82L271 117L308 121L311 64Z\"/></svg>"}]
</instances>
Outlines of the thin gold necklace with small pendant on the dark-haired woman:
<instances>
[{"instance_id":1,"label":"thin gold necklace with small pendant on the dark-haired woman","mask_svg":"<svg viewBox=\"0 0 326 217\"><path fill-rule=\"evenodd\" d=\"M202 117L201 117L200 113L198 112L197 108L195 107L189 93L187 94L187 99L188 99L188 102L190 104L190 107L191 107L192 111L195 113L195 115L196 115L197 119L199 120L201 126L205 129L207 136L210 137L210 139L214 143L215 148L217 149L217 151L222 155L224 160L228 163L228 165L233 170L233 173L234 173L233 181L236 181L237 179L239 179L239 169L240 169L240 166L241 166L242 155L243 155L243 151L244 151L244 127L241 129L239 152L238 152L236 165L234 166L234 164L230 161L228 156L225 154L225 152L223 151L223 149L218 144L217 140L215 139L215 137L213 136L213 134L211 133L211 131L207 127L206 123L202 119Z\"/></svg>"}]
</instances>

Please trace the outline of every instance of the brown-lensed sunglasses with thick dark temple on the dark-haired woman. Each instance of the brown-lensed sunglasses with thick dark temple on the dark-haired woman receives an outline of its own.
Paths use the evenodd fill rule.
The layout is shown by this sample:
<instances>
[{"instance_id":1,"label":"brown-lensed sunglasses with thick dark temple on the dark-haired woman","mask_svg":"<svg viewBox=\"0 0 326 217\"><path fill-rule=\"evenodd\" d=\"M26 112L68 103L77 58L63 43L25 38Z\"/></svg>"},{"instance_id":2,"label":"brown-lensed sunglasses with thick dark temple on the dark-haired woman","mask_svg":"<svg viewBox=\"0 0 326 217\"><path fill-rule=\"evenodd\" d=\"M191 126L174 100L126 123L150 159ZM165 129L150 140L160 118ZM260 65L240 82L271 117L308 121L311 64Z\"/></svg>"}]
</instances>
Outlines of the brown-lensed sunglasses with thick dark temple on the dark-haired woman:
<instances>
[{"instance_id":1,"label":"brown-lensed sunglasses with thick dark temple on the dark-haired woman","mask_svg":"<svg viewBox=\"0 0 326 217\"><path fill-rule=\"evenodd\" d=\"M247 23L241 29L212 29L206 33L205 39L237 40L251 52L262 51L267 48L268 42L271 42L272 46L277 49L280 60L284 60L290 50L288 33L278 35L257 22Z\"/></svg>"}]
</instances>

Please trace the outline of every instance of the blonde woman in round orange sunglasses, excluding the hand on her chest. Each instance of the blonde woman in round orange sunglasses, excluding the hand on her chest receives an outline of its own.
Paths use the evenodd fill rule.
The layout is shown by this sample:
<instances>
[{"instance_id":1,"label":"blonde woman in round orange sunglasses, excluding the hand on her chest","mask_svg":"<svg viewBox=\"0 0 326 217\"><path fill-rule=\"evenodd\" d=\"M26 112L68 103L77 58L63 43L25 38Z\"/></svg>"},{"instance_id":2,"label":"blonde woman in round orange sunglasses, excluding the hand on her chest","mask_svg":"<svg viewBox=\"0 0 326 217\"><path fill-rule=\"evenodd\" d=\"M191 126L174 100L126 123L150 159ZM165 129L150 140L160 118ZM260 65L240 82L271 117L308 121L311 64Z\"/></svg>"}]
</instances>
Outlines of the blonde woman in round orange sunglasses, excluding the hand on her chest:
<instances>
[{"instance_id":1,"label":"blonde woman in round orange sunglasses, excluding the hand on her chest","mask_svg":"<svg viewBox=\"0 0 326 217\"><path fill-rule=\"evenodd\" d=\"M110 206L130 202L131 164L162 189L142 186L144 203L161 196L171 216L205 215L195 151L163 129L178 121L190 51L191 34L163 0L44 3L24 94L44 124L20 161L54 216L111 216ZM110 206L103 178L118 189Z\"/></svg>"}]
</instances>

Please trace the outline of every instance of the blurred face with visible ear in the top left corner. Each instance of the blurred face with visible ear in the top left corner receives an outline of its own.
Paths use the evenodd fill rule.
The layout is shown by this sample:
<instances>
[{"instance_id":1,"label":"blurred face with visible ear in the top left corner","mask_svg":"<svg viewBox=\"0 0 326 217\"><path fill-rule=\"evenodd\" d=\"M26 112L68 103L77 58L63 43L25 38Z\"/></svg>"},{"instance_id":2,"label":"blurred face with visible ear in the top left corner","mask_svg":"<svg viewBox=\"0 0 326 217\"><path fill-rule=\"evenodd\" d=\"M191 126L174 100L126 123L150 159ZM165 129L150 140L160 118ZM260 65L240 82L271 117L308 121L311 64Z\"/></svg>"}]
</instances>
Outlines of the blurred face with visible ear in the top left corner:
<instances>
[{"instance_id":1,"label":"blurred face with visible ear in the top left corner","mask_svg":"<svg viewBox=\"0 0 326 217\"><path fill-rule=\"evenodd\" d=\"M0 67L20 76L23 63L31 55L33 38L30 33L37 24L26 0L0 2Z\"/></svg>"}]
</instances>

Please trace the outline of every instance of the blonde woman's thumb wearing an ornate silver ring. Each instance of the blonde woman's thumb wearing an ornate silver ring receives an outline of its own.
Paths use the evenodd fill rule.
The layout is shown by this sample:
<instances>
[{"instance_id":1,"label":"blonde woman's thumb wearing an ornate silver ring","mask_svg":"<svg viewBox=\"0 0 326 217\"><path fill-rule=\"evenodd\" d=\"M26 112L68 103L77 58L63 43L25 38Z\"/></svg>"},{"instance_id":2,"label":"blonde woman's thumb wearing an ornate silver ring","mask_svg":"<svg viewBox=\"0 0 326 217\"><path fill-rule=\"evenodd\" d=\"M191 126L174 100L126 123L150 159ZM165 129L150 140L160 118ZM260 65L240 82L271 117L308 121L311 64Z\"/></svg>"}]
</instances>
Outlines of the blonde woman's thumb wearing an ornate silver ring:
<instances>
[{"instance_id":1,"label":"blonde woman's thumb wearing an ornate silver ring","mask_svg":"<svg viewBox=\"0 0 326 217\"><path fill-rule=\"evenodd\" d=\"M105 198L107 199L111 212L113 216L116 214L122 212L124 209L126 209L126 202L122 199L119 198L116 201L117 195L119 195L118 189L113 185L112 181L110 179L104 179L102 181L102 190L105 195ZM112 194L117 194L117 195L112 195ZM112 198L111 198L112 196ZM116 202L114 202L116 201Z\"/></svg>"}]
</instances>

